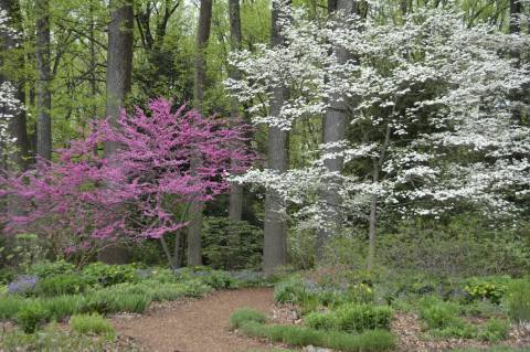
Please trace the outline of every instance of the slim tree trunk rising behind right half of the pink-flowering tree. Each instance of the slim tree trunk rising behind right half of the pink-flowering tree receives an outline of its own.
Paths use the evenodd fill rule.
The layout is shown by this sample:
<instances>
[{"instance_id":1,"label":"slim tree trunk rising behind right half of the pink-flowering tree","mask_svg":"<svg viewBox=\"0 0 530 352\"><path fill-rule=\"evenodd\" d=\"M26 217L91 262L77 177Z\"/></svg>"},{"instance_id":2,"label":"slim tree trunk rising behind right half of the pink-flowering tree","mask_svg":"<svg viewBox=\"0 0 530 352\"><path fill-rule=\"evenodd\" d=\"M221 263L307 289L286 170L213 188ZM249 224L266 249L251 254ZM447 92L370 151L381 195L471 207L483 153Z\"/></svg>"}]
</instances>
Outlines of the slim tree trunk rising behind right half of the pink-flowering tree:
<instances>
[{"instance_id":1,"label":"slim tree trunk rising behind right half of the pink-flowering tree","mask_svg":"<svg viewBox=\"0 0 530 352\"><path fill-rule=\"evenodd\" d=\"M195 108L203 111L204 90L206 87L206 46L210 39L212 22L212 0L201 0L199 23L197 25L194 66L194 100ZM201 161L192 160L192 168ZM188 265L202 265L202 211L203 205L194 204L191 211L191 222L188 228Z\"/></svg>"}]
</instances>

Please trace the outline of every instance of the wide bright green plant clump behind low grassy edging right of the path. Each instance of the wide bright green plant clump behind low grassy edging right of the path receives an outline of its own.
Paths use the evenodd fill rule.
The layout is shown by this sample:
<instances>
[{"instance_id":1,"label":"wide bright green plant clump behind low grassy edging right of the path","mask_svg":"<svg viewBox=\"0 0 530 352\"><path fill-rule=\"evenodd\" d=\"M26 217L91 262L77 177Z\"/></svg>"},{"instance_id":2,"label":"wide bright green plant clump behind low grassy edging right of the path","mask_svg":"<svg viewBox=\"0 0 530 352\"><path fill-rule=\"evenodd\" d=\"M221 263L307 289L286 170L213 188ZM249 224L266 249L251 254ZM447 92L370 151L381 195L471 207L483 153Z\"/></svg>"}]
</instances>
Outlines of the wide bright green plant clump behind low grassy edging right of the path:
<instances>
[{"instance_id":1,"label":"wide bright green plant clump behind low grassy edging right of the path","mask_svg":"<svg viewBox=\"0 0 530 352\"><path fill-rule=\"evenodd\" d=\"M348 303L337 310L307 316L306 324L312 329L361 332L374 329L390 329L392 309L386 306Z\"/></svg>"}]
</instances>

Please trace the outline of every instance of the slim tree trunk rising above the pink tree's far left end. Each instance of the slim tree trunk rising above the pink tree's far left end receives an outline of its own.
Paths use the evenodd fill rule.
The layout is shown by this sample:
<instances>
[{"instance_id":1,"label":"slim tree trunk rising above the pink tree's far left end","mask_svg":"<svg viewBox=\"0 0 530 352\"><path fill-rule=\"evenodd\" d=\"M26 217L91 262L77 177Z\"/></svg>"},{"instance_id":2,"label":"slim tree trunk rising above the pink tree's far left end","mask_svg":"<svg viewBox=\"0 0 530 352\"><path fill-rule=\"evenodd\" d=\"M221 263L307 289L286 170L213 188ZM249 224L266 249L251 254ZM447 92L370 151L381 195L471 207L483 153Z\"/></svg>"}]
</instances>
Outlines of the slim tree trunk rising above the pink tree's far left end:
<instances>
[{"instance_id":1,"label":"slim tree trunk rising above the pink tree's far left end","mask_svg":"<svg viewBox=\"0 0 530 352\"><path fill-rule=\"evenodd\" d=\"M39 157L52 159L52 94L50 90L50 2L35 0L36 14L36 153Z\"/></svg>"}]
</instances>

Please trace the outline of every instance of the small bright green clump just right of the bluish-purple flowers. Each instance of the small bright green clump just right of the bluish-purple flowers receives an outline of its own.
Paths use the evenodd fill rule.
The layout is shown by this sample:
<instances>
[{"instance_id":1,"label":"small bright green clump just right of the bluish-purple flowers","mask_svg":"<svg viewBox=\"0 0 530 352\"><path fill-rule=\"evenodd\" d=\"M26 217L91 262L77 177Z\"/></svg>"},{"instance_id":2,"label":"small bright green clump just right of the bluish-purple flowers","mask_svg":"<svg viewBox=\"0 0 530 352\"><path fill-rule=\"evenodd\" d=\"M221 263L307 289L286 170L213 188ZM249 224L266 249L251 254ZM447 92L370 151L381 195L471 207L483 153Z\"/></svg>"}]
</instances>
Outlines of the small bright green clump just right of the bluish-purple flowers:
<instances>
[{"instance_id":1,"label":"small bright green clump just right of the bluish-purple flowers","mask_svg":"<svg viewBox=\"0 0 530 352\"><path fill-rule=\"evenodd\" d=\"M87 280L78 274L57 274L41 279L35 292L42 296L82 294L87 288Z\"/></svg>"}]
</instances>

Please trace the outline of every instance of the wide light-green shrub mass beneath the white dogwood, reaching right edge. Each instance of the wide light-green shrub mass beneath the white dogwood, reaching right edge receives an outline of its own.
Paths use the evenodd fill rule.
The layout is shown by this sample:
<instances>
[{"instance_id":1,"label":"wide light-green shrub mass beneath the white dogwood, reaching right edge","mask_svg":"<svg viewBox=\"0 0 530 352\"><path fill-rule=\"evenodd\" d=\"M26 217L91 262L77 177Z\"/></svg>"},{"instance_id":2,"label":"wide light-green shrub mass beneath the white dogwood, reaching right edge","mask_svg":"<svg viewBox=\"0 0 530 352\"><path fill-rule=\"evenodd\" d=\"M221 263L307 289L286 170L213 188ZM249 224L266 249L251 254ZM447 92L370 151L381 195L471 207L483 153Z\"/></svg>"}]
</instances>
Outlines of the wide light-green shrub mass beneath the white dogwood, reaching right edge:
<instances>
[{"instance_id":1,"label":"wide light-green shrub mass beneath the white dogwood, reaching right edge","mask_svg":"<svg viewBox=\"0 0 530 352\"><path fill-rule=\"evenodd\" d=\"M530 269L530 247L511 230L491 230L473 214L448 223L403 222L380 236L379 263L400 270L447 276L520 276Z\"/></svg>"}]
</instances>

